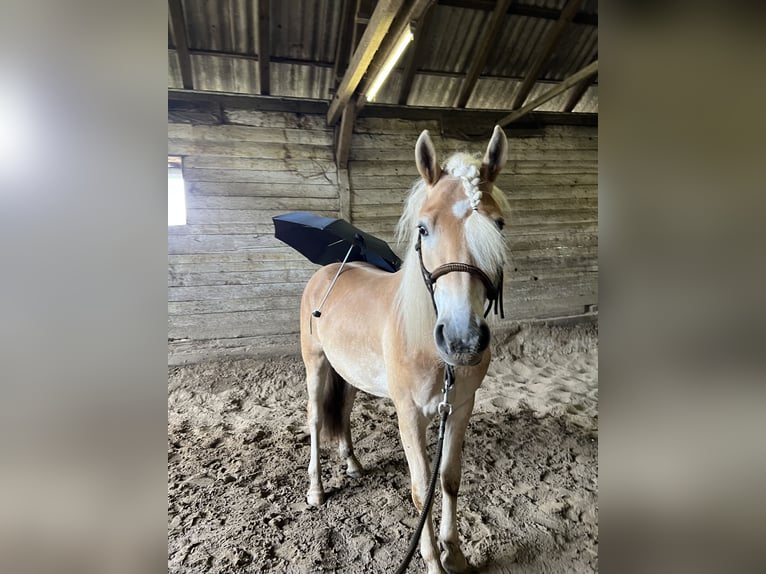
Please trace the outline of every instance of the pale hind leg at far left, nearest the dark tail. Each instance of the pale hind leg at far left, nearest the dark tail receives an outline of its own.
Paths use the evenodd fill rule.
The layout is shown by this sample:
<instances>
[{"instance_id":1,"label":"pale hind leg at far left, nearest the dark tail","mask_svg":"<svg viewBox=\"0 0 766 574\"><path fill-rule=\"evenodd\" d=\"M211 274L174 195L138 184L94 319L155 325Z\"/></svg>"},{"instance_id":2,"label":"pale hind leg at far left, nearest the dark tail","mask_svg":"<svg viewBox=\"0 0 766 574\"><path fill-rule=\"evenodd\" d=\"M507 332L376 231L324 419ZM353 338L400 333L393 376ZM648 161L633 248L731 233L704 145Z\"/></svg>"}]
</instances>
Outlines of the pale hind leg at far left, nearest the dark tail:
<instances>
[{"instance_id":1,"label":"pale hind leg at far left, nearest the dark tail","mask_svg":"<svg viewBox=\"0 0 766 574\"><path fill-rule=\"evenodd\" d=\"M319 506L324 502L322 463L319 460L319 439L324 424L324 400L330 374L330 364L324 353L304 353L306 387L308 390L308 425L311 433L309 459L309 490L306 502Z\"/></svg>"}]
</instances>

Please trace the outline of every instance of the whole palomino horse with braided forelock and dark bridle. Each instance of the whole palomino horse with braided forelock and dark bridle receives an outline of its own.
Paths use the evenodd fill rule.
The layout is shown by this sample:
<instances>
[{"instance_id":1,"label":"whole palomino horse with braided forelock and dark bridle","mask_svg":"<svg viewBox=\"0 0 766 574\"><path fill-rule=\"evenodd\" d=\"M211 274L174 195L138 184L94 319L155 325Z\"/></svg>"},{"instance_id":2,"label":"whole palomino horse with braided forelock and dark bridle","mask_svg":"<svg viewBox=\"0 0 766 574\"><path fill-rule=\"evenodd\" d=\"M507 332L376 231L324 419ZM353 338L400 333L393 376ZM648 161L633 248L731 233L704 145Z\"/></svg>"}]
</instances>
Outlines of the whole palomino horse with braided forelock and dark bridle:
<instances>
[{"instance_id":1,"label":"whole palomino horse with braided forelock and dark bridle","mask_svg":"<svg viewBox=\"0 0 766 574\"><path fill-rule=\"evenodd\" d=\"M500 230L508 203L493 182L505 163L506 149L505 134L495 127L481 162L455 154L440 167L423 131L415 145L423 179L413 186L397 229L400 240L410 246L402 268L387 273L366 263L347 264L321 318L315 318L312 310L338 269L338 264L328 265L311 278L301 302L311 432L307 501L313 506L324 502L319 460L323 428L338 438L347 473L363 474L349 422L354 396L361 389L394 402L412 500L421 511L430 474L426 427L442 401L444 365L455 367L440 466L441 552L431 516L420 538L430 574L442 572L442 566L448 572L467 568L456 517L461 450L474 393L490 361L484 303L489 298L491 304L502 289L505 242ZM430 278L426 284L424 277Z\"/></svg>"}]
</instances>

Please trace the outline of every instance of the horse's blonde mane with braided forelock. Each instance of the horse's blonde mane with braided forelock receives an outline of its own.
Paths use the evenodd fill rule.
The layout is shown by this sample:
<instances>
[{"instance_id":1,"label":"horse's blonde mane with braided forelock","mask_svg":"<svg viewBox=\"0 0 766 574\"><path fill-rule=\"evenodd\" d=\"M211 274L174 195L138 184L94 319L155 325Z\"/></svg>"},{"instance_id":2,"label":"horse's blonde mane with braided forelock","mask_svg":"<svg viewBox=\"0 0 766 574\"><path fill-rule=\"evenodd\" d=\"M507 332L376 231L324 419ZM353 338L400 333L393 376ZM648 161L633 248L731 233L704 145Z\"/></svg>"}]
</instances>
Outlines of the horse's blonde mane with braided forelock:
<instances>
[{"instance_id":1,"label":"horse's blonde mane with braided forelock","mask_svg":"<svg viewBox=\"0 0 766 574\"><path fill-rule=\"evenodd\" d=\"M465 239L474 264L496 281L506 261L506 244L502 233L491 218L478 212L483 192L479 190L481 161L475 157L456 153L445 163L442 177L460 179L472 212L465 220ZM435 314L431 297L423 283L420 261L415 251L418 216L428 195L426 183L419 179L410 189L404 204L404 212L396 227L399 245L406 245L402 263L402 281L396 293L395 305L399 324L409 346L433 345ZM503 216L508 216L510 206L505 194L492 185L489 195Z\"/></svg>"}]
</instances>

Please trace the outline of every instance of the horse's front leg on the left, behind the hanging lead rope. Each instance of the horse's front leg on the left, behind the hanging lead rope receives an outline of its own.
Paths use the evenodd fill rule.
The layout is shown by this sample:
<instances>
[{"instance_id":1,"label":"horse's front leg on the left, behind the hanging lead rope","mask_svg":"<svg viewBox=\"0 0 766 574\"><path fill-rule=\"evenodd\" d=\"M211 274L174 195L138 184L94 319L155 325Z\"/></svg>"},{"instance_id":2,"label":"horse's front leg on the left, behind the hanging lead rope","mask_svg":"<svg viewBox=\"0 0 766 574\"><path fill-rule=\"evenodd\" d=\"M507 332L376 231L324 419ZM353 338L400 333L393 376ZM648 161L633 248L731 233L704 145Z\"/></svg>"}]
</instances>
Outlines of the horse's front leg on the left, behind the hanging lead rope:
<instances>
[{"instance_id":1,"label":"horse's front leg on the left, behind the hanging lead rope","mask_svg":"<svg viewBox=\"0 0 766 574\"><path fill-rule=\"evenodd\" d=\"M412 502L417 511L422 512L428 493L428 480L431 475L431 465L426 453L426 427L429 419L409 402L396 404L396 413L399 419L399 434L402 438L404 454L410 467ZM423 527L423 533L420 535L420 555L426 563L428 574L441 574L443 572L439 563L430 510Z\"/></svg>"}]
</instances>

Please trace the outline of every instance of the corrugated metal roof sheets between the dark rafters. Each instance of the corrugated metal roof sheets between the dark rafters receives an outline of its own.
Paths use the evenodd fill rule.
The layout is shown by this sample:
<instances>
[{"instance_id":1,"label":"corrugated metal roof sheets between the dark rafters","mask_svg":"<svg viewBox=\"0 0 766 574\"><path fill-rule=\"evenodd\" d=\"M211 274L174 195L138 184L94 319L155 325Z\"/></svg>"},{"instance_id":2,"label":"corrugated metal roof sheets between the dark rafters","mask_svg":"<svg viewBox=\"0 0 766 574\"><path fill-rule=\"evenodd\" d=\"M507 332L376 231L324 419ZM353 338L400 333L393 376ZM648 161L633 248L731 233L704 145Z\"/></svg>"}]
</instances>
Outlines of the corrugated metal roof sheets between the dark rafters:
<instances>
[{"instance_id":1,"label":"corrugated metal roof sheets between the dark rafters","mask_svg":"<svg viewBox=\"0 0 766 574\"><path fill-rule=\"evenodd\" d=\"M356 5L354 0L351 3ZM455 105L492 17L486 3L482 4L483 9L465 7L469 4L462 2L445 3L450 5L437 4L433 8L428 35L419 44L422 62L414 77L408 105ZM566 0L523 0L522 3L560 11ZM182 0L195 89L260 93L257 5L253 0ZM271 0L269 6L270 94L331 99L336 82L333 66L342 33L343 0ZM597 0L585 0L580 7L582 14L596 15L597 10ZM503 16L466 107L510 110L541 42L555 25L556 20L550 14L545 16L520 15L513 10ZM180 89L183 82L175 42L169 19L168 87ZM597 26L570 22L527 102L597 57ZM377 102L398 102L402 69L400 64L388 78ZM539 110L562 111L570 92L546 102ZM598 111L595 84L585 92L575 111Z\"/></svg>"}]
</instances>

